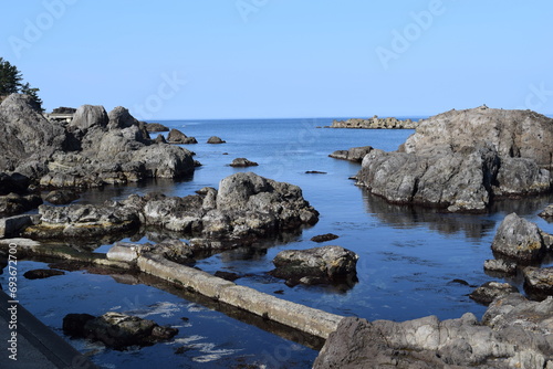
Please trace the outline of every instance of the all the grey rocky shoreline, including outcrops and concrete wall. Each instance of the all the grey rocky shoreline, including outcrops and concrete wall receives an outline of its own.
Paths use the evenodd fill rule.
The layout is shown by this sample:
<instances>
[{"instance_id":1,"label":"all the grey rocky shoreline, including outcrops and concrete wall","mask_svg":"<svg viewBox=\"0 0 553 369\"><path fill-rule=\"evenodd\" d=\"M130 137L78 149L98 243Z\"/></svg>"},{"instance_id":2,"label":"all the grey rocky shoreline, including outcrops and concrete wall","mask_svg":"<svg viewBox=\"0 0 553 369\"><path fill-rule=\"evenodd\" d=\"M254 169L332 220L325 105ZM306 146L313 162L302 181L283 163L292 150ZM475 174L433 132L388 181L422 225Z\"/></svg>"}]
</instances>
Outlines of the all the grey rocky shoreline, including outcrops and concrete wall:
<instances>
[{"instance_id":1,"label":"all the grey rocky shoreline, including outcrops and concrete wall","mask_svg":"<svg viewBox=\"0 0 553 369\"><path fill-rule=\"evenodd\" d=\"M157 276L326 339L314 368L553 368L553 272L541 267L553 252L553 235L515 213L499 226L491 244L495 259L483 267L505 277L522 276L526 296L495 281L479 286L471 298L489 304L480 321L472 314L442 321L429 316L403 323L343 317L192 267L202 252L251 246L286 232L299 234L315 224L320 214L298 186L237 172L223 178L218 189L206 187L182 198L149 193L103 204L41 204L40 190L45 189L83 191L146 178L182 178L195 170L194 154L150 139L144 124L123 107L106 113L103 107L85 105L72 120L60 123L45 119L25 96L11 95L0 105L0 122L4 134L0 139L0 211L4 217L0 252L4 254L10 244L17 244L21 256L73 260ZM486 211L501 197L551 191L552 138L553 119L534 112L480 107L417 124L416 133L397 151L365 146L331 156L361 162L357 183L389 202L449 212ZM176 130L170 139L178 145L195 140ZM209 143L225 141L213 136ZM240 167L252 165L239 159ZM60 203L72 199L67 194ZM32 209L38 213L21 214ZM551 214L549 208L542 213L544 218ZM155 232L159 241L117 242L106 255L91 252L100 243L113 244L145 232ZM321 235L324 241L336 238ZM336 245L284 250L267 274L290 286L342 284L347 288L357 282L357 260L358 255ZM67 334L94 340L116 342L118 338L104 330L121 329L115 328L118 323L147 328L137 333L144 336L138 344L125 338L129 345L150 345L175 335L170 327L128 316L73 318L84 321L83 326L79 328L70 319ZM106 321L114 325L106 326Z\"/></svg>"}]
</instances>

